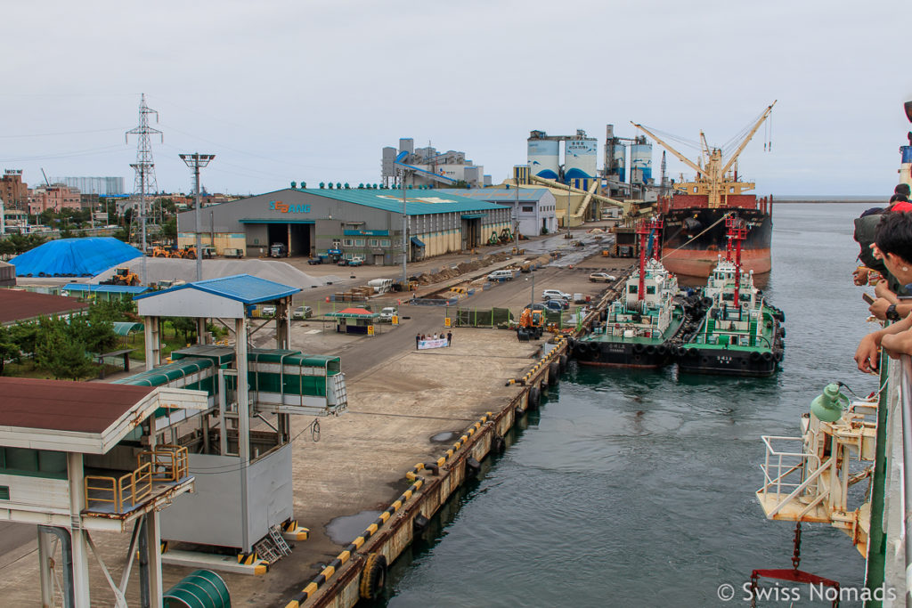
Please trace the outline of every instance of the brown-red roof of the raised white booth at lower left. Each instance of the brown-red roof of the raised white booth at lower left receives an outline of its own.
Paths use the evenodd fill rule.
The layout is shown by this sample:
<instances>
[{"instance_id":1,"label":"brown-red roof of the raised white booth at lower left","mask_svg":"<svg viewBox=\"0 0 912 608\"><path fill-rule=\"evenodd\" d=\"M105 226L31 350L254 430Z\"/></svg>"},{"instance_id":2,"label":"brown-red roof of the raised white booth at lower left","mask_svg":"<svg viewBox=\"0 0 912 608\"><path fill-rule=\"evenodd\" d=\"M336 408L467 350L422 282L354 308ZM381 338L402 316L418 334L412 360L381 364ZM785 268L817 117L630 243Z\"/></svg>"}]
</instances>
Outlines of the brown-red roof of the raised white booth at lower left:
<instances>
[{"instance_id":1,"label":"brown-red roof of the raised white booth at lower left","mask_svg":"<svg viewBox=\"0 0 912 608\"><path fill-rule=\"evenodd\" d=\"M0 377L0 426L101 433L152 386Z\"/></svg>"}]
</instances>

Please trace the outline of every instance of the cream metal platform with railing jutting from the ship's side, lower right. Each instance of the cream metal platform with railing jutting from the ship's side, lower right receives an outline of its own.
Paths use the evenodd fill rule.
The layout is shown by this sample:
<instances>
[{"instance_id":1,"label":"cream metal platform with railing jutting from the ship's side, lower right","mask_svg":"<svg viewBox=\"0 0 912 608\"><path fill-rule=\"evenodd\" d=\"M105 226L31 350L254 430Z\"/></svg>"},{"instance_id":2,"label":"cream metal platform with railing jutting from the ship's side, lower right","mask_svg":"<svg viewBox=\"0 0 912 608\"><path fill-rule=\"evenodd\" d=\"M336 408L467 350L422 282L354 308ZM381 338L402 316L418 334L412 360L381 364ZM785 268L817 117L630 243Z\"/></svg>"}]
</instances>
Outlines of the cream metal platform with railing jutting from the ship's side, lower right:
<instances>
[{"instance_id":1,"label":"cream metal platform with railing jutting from the ship's side, lower right","mask_svg":"<svg viewBox=\"0 0 912 608\"><path fill-rule=\"evenodd\" d=\"M825 479L820 479L824 472L830 470L835 462L835 457L821 462L814 454L804 451L804 438L782 437L764 435L763 444L766 447L766 457L761 465L763 471L763 487L759 492L766 498L774 494L776 506L768 510L766 516L770 519L793 500L802 500L804 508L798 514L802 518L823 502L830 491L825 484ZM782 443L797 444L799 451L791 451L773 446ZM819 483L818 481L824 481Z\"/></svg>"}]
</instances>

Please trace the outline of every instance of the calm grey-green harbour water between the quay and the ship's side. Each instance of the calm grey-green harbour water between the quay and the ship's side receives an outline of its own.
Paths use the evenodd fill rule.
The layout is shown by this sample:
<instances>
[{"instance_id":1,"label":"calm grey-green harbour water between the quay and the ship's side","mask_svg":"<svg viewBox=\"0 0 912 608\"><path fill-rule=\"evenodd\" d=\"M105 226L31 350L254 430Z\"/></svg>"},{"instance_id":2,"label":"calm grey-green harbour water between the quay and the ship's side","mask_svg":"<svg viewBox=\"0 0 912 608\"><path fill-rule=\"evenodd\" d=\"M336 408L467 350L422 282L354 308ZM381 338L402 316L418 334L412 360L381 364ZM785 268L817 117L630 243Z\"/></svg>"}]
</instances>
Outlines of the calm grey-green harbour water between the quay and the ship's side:
<instances>
[{"instance_id":1,"label":"calm grey-green harbour water between the quay and the ship's side","mask_svg":"<svg viewBox=\"0 0 912 608\"><path fill-rule=\"evenodd\" d=\"M754 499L761 435L796 436L829 382L876 389L852 361L873 329L851 281L852 219L865 206L776 208L765 292L786 314L777 376L571 364L513 445L390 569L386 605L747 605L751 570L789 568L792 556L793 524L765 520ZM804 524L802 556L805 571L864 582L864 560L834 528ZM730 603L716 595L725 582Z\"/></svg>"}]
</instances>

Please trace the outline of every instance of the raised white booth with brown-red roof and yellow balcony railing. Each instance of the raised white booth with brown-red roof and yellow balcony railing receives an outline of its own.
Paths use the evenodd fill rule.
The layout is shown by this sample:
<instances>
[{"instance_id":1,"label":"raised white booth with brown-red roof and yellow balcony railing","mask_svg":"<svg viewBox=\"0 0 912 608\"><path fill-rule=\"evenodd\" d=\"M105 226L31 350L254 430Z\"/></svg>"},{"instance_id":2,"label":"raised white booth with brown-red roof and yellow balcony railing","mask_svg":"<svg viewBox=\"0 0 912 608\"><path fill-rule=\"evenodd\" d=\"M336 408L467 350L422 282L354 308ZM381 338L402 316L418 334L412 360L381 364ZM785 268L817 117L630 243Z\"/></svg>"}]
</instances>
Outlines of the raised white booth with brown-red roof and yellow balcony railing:
<instances>
[{"instance_id":1,"label":"raised white booth with brown-red roof and yellow balcony railing","mask_svg":"<svg viewBox=\"0 0 912 608\"><path fill-rule=\"evenodd\" d=\"M7 377L0 394L0 520L38 524L41 605L57 605L57 580L65 606L126 606L139 555L140 597L161 606L161 516L194 479L187 449L160 439L172 420L199 417L205 394ZM97 531L131 534L119 583L92 541ZM90 566L109 589L90 589Z\"/></svg>"}]
</instances>

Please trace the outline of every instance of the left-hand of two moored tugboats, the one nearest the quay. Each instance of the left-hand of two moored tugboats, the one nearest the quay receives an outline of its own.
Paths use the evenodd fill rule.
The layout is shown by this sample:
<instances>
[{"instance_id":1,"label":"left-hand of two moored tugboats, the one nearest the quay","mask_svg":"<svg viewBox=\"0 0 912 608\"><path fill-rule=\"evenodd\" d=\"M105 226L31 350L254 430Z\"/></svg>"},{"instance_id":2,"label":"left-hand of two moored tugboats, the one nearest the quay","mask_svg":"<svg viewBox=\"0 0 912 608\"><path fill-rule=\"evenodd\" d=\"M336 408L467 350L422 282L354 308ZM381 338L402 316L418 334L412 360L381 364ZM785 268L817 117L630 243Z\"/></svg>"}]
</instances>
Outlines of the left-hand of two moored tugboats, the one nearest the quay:
<instances>
[{"instance_id":1,"label":"left-hand of two moored tugboats, the one nearest the quay","mask_svg":"<svg viewBox=\"0 0 912 608\"><path fill-rule=\"evenodd\" d=\"M684 311L676 299L678 279L659 262L661 230L661 220L637 227L639 268L607 309L604 323L575 341L573 355L582 365L657 368L673 361L668 343L679 333Z\"/></svg>"}]
</instances>

